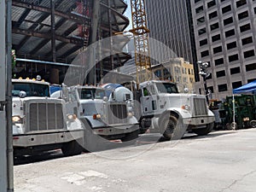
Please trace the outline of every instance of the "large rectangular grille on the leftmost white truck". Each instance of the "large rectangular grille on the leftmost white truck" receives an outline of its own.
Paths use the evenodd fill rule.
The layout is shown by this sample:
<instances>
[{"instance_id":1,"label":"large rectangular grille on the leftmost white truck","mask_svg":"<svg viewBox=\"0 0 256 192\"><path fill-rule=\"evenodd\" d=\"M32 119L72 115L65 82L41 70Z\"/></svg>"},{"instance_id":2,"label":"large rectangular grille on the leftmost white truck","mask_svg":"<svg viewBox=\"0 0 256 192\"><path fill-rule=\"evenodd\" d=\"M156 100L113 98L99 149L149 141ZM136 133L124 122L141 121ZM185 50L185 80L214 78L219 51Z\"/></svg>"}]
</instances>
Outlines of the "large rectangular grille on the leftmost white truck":
<instances>
[{"instance_id":1,"label":"large rectangular grille on the leftmost white truck","mask_svg":"<svg viewBox=\"0 0 256 192\"><path fill-rule=\"evenodd\" d=\"M64 128L61 103L31 103L27 131L58 130Z\"/></svg>"}]
</instances>

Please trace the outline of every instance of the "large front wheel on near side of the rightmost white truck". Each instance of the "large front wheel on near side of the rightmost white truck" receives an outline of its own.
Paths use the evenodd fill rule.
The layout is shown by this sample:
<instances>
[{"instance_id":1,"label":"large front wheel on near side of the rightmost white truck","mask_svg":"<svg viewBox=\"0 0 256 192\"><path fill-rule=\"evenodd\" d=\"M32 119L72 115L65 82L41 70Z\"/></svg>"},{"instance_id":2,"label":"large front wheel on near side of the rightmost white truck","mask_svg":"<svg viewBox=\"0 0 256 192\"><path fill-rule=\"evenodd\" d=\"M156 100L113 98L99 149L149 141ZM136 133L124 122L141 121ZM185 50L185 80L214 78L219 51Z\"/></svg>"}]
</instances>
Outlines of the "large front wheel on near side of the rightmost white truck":
<instances>
[{"instance_id":1,"label":"large front wheel on near side of the rightmost white truck","mask_svg":"<svg viewBox=\"0 0 256 192\"><path fill-rule=\"evenodd\" d=\"M171 140L181 139L186 132L181 120L174 116L169 117L167 122L165 122L164 127L166 127L166 130L164 131L163 136Z\"/></svg>"}]
</instances>

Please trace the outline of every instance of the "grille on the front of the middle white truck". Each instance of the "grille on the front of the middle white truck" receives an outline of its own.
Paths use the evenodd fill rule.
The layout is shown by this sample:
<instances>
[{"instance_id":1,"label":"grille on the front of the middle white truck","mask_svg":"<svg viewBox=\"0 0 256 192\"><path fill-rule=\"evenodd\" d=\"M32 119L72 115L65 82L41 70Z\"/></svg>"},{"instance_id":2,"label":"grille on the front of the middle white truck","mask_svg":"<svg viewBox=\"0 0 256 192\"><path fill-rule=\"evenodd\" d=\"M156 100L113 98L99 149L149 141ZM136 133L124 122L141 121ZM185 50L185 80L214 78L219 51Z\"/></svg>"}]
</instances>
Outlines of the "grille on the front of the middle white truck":
<instances>
[{"instance_id":1,"label":"grille on the front of the middle white truck","mask_svg":"<svg viewBox=\"0 0 256 192\"><path fill-rule=\"evenodd\" d=\"M108 105L108 124L127 123L126 104L111 103Z\"/></svg>"}]
</instances>

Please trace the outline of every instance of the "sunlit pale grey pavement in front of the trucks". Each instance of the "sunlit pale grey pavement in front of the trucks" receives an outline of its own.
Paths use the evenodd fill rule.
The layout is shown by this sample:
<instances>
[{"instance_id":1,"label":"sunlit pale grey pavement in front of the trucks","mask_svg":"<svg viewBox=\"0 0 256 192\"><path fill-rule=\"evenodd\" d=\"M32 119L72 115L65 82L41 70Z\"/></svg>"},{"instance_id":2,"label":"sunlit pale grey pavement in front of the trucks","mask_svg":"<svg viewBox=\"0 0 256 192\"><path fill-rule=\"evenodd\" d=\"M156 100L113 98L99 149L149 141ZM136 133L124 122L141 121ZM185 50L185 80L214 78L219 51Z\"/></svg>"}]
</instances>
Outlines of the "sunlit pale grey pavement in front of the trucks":
<instances>
[{"instance_id":1,"label":"sunlit pale grey pavement in front of the trucks","mask_svg":"<svg viewBox=\"0 0 256 192\"><path fill-rule=\"evenodd\" d=\"M15 192L256 191L256 129L215 131L15 166Z\"/></svg>"}]
</instances>

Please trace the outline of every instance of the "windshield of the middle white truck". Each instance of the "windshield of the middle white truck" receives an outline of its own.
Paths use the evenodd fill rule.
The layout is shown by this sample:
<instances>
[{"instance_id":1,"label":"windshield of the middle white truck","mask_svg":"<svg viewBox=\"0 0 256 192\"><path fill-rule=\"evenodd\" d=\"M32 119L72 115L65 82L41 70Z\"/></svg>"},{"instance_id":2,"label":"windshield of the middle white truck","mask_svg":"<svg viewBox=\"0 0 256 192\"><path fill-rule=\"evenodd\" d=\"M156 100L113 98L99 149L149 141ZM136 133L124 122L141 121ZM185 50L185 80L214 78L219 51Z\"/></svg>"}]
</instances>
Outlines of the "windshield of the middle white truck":
<instances>
[{"instance_id":1,"label":"windshield of the middle white truck","mask_svg":"<svg viewBox=\"0 0 256 192\"><path fill-rule=\"evenodd\" d=\"M80 90L80 99L103 99L106 96L105 90L102 89L82 89Z\"/></svg>"}]
</instances>

